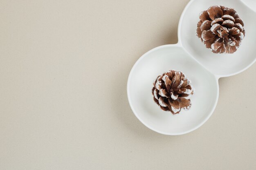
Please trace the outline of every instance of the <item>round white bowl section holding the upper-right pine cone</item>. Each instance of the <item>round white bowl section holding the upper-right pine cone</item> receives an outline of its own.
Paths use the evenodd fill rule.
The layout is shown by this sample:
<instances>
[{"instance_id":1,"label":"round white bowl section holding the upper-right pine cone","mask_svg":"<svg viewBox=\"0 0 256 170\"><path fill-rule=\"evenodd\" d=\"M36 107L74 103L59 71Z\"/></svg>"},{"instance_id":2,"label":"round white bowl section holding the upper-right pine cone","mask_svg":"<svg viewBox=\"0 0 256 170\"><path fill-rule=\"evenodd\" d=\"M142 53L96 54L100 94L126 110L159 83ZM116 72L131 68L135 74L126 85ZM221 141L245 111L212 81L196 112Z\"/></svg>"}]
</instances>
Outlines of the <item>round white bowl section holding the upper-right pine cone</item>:
<instances>
[{"instance_id":1,"label":"round white bowl section holding the upper-right pine cone","mask_svg":"<svg viewBox=\"0 0 256 170\"><path fill-rule=\"evenodd\" d=\"M200 11L212 5L223 5L234 8L245 22L245 38L240 47L233 54L215 54L205 48L200 39L195 36L196 23L199 21ZM195 60L206 67L211 73L219 77L238 74L249 68L256 60L256 12L249 9L241 0L191 0L185 7L178 26L178 39L181 46Z\"/></svg>"}]
</instances>

